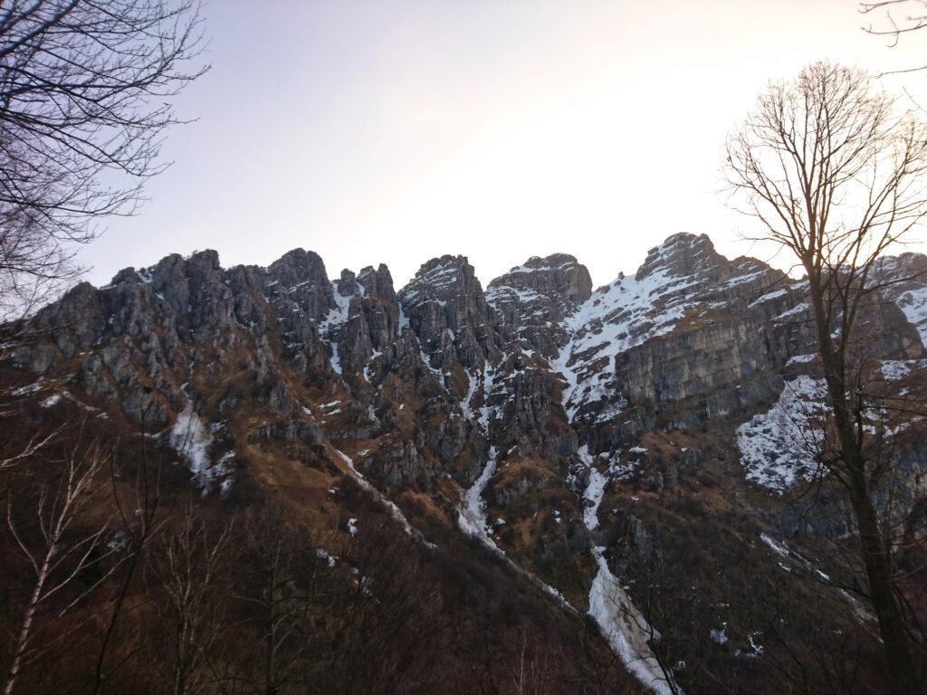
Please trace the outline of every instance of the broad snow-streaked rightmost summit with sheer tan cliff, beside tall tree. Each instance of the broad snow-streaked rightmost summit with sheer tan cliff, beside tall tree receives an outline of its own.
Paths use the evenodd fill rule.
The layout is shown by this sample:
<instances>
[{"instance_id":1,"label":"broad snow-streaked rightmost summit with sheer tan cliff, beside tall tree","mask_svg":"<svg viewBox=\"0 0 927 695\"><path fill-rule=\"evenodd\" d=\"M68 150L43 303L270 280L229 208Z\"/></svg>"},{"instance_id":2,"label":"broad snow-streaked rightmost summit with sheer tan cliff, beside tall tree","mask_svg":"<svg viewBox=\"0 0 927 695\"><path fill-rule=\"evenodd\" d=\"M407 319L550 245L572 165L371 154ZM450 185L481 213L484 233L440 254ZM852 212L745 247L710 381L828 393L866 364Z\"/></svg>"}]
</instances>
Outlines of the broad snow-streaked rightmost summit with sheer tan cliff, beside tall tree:
<instances>
[{"instance_id":1,"label":"broad snow-streaked rightmost summit with sheer tan cliff, beside tall tree","mask_svg":"<svg viewBox=\"0 0 927 695\"><path fill-rule=\"evenodd\" d=\"M781 367L809 340L805 327L778 319L803 296L794 285L756 259L725 259L705 235L669 237L633 277L619 275L566 321L571 335L556 361L571 418L604 423L631 403L675 403ZM757 378L744 397L768 397L778 377ZM738 407L740 397L719 396L679 423Z\"/></svg>"}]
</instances>

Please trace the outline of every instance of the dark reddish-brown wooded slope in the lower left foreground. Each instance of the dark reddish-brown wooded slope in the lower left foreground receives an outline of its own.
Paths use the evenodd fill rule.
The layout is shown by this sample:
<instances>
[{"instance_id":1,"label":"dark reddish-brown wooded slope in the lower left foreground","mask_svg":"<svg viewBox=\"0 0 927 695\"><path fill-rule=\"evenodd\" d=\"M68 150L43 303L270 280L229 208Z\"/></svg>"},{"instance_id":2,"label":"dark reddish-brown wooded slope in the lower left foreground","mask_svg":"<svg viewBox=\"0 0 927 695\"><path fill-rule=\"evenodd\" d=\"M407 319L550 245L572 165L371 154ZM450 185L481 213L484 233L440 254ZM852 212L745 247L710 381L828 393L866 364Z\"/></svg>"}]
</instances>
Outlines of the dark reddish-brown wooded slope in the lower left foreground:
<instances>
[{"instance_id":1,"label":"dark reddish-brown wooded slope in the lower left foreground","mask_svg":"<svg viewBox=\"0 0 927 695\"><path fill-rule=\"evenodd\" d=\"M326 521L256 486L203 500L171 453L61 411L0 474L6 693L638 691L590 621L348 476Z\"/></svg>"}]
</instances>

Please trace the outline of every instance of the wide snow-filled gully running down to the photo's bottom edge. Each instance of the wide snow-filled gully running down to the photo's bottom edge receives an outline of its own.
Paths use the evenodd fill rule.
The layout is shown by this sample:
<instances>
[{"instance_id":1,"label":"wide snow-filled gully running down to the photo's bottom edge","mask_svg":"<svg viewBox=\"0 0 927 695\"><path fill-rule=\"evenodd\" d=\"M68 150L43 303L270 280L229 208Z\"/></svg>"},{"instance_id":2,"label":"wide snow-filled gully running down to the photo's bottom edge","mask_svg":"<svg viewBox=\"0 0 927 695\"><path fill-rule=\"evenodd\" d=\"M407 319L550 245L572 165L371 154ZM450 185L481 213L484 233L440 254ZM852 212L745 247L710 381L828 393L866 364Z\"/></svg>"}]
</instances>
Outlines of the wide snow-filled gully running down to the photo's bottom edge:
<instances>
[{"instance_id":1,"label":"wide snow-filled gully running down to the photo's bottom edge","mask_svg":"<svg viewBox=\"0 0 927 695\"><path fill-rule=\"evenodd\" d=\"M591 532L599 526L599 505L602 504L608 477L595 468L588 447L581 447L578 454L589 469L589 484L583 497L592 504L586 508L583 521ZM647 644L652 637L659 639L659 635L637 610L608 568L604 552L601 546L592 549L592 557L595 558L599 572L592 580L589 592L589 614L599 625L612 651L644 686L652 689L656 695L672 695L674 690ZM675 691L681 692L679 687Z\"/></svg>"}]
</instances>

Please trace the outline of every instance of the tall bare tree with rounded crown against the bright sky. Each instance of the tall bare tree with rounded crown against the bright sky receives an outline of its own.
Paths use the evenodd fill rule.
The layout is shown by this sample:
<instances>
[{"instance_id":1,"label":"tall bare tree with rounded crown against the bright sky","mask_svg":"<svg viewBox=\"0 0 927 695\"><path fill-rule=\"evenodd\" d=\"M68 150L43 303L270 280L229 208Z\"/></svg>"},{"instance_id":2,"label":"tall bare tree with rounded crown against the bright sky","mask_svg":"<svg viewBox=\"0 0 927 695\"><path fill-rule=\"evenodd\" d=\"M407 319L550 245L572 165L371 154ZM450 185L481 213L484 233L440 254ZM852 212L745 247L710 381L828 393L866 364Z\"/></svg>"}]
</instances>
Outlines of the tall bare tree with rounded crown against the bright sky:
<instances>
[{"instance_id":1,"label":"tall bare tree with rounded crown against the bright sky","mask_svg":"<svg viewBox=\"0 0 927 695\"><path fill-rule=\"evenodd\" d=\"M868 322L887 284L878 269L927 213L927 131L864 72L828 63L770 83L727 145L739 209L754 239L787 251L806 273L828 403L819 463L852 506L872 608L897 687L919 689L919 669L895 598L893 548L873 501L887 472L885 432L870 413L874 356L885 335ZM890 336L888 336L890 337Z\"/></svg>"}]
</instances>

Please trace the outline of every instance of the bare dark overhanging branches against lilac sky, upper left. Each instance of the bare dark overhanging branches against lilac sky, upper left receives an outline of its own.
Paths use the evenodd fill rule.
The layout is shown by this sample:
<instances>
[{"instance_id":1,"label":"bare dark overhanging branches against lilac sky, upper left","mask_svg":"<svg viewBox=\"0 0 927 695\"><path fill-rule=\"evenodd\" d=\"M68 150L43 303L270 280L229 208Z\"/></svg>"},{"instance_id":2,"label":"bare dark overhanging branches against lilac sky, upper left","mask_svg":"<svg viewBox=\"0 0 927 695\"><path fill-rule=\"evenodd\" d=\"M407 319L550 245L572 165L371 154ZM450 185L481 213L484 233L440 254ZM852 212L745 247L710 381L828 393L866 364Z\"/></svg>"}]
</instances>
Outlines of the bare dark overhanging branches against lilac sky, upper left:
<instances>
[{"instance_id":1,"label":"bare dark overhanging branches against lilac sky, upper left","mask_svg":"<svg viewBox=\"0 0 927 695\"><path fill-rule=\"evenodd\" d=\"M0 318L77 275L96 221L133 213L201 39L198 0L0 3Z\"/></svg>"}]
</instances>

